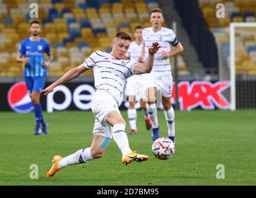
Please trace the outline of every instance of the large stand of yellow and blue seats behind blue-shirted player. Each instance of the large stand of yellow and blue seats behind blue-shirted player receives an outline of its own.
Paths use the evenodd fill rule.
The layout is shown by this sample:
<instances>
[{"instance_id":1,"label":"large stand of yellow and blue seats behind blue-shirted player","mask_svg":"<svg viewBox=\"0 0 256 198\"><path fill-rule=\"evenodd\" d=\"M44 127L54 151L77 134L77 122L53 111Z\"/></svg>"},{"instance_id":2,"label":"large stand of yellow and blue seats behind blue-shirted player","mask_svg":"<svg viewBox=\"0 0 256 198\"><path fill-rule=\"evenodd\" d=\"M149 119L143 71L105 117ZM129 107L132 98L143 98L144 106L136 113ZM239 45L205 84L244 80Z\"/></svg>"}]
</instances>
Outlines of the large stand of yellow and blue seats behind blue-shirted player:
<instances>
[{"instance_id":1,"label":"large stand of yellow and blue seats behind blue-shirted player","mask_svg":"<svg viewBox=\"0 0 256 198\"><path fill-rule=\"evenodd\" d=\"M158 7L157 0L0 0L0 76L22 76L16 55L21 40L29 37L32 2L39 5L40 36L49 41L53 53L48 76L63 75L94 50L109 52L118 30L132 35L136 25L149 27L149 11ZM182 56L178 60L182 74L188 68Z\"/></svg>"}]
</instances>

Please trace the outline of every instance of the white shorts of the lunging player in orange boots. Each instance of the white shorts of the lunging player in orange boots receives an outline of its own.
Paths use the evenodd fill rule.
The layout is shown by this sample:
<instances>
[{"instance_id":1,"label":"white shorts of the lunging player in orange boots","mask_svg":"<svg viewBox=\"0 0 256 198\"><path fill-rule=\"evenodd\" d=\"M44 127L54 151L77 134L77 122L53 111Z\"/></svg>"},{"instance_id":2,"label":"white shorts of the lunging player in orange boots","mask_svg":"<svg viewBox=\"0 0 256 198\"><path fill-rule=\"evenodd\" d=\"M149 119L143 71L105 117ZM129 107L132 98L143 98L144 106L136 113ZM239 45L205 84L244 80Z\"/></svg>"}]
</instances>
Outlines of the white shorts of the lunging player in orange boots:
<instances>
[{"instance_id":1,"label":"white shorts of the lunging player in orange boots","mask_svg":"<svg viewBox=\"0 0 256 198\"><path fill-rule=\"evenodd\" d=\"M106 123L106 118L111 111L120 113L116 98L109 92L96 91L91 100L91 110L95 116L93 134L112 138L112 126Z\"/></svg>"}]
</instances>

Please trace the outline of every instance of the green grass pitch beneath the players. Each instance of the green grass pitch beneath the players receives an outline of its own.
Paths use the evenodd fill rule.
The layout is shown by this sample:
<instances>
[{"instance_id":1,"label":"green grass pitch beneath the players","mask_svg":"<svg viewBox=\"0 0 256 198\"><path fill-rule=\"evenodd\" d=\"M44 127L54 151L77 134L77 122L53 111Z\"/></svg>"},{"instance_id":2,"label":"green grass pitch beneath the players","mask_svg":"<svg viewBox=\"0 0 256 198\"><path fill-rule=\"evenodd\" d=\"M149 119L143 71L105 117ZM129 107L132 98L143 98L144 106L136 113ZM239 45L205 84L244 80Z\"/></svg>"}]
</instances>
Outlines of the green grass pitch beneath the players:
<instances>
[{"instance_id":1,"label":"green grass pitch beneath the players","mask_svg":"<svg viewBox=\"0 0 256 198\"><path fill-rule=\"evenodd\" d=\"M0 185L255 185L256 111L175 111L176 153L158 160L151 152L151 131L138 111L139 134L129 135L130 147L149 155L149 161L121 163L114 140L104 157L68 166L53 178L45 173L58 154L70 155L89 147L93 138L91 111L44 113L48 136L34 136L34 114L0 113ZM126 111L122 111L127 120ZM167 136L163 111L158 111L160 136ZM128 123L127 123L128 126ZM126 127L129 131L129 127ZM30 165L39 167L39 179L30 179ZM217 179L218 164L224 179Z\"/></svg>"}]
</instances>

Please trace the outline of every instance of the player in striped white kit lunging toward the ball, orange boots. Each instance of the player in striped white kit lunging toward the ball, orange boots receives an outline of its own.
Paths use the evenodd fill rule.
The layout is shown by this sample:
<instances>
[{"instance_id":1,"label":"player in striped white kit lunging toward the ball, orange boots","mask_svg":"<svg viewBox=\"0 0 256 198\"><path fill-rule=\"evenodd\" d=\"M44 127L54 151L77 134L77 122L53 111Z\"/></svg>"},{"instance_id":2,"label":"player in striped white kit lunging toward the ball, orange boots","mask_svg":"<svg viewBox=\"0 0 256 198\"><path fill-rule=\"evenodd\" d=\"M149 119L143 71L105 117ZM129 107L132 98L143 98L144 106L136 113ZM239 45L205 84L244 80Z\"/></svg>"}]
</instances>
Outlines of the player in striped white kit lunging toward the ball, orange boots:
<instances>
[{"instance_id":1,"label":"player in striped white kit lunging toward the ball, orange boots","mask_svg":"<svg viewBox=\"0 0 256 198\"><path fill-rule=\"evenodd\" d=\"M128 33L117 33L112 41L110 54L95 51L83 64L71 69L63 77L40 92L41 95L46 95L58 85L75 79L83 72L89 69L94 71L96 93L91 100L91 109L95 116L95 123L91 147L80 149L65 158L55 155L52 159L53 165L47 172L47 177L54 176L55 173L68 165L85 163L102 157L112 137L122 152L122 163L125 165L132 163L132 161L149 159L147 155L140 155L130 150L125 132L126 122L121 116L118 105L128 75L149 73L153 67L154 54L158 51L159 46L157 42L153 43L149 48L147 62L136 63L123 60L129 49L130 40Z\"/></svg>"}]
</instances>

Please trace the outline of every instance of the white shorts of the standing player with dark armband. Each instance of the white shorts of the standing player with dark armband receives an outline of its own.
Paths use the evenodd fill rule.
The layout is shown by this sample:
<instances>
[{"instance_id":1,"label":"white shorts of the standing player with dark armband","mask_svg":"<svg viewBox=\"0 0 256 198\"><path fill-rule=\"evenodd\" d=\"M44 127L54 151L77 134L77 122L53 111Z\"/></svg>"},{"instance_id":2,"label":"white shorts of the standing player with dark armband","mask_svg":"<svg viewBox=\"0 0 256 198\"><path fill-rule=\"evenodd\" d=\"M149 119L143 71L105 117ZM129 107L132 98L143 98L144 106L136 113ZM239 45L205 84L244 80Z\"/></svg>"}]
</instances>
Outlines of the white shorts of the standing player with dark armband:
<instances>
[{"instance_id":1,"label":"white shorts of the standing player with dark armband","mask_svg":"<svg viewBox=\"0 0 256 198\"><path fill-rule=\"evenodd\" d=\"M150 76L147 88L156 87L157 90L161 91L163 97L171 97L173 88L173 77L171 74L160 75L157 72L151 72Z\"/></svg>"}]
</instances>

